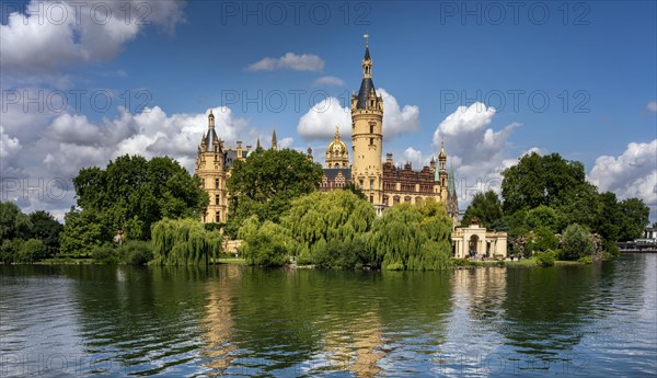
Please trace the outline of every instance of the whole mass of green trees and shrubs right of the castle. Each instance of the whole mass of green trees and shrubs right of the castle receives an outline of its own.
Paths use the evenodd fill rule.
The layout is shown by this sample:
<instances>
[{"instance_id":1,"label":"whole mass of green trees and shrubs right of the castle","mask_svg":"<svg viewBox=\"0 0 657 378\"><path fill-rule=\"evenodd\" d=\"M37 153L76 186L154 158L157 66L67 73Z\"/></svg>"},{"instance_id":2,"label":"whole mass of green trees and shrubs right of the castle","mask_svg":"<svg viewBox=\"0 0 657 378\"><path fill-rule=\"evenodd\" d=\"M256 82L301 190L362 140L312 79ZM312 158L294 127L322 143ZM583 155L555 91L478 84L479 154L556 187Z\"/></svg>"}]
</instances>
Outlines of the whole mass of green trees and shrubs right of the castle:
<instances>
[{"instance_id":1,"label":"whole mass of green trees and shrubs right of the castle","mask_svg":"<svg viewBox=\"0 0 657 378\"><path fill-rule=\"evenodd\" d=\"M523 156L503 175L502 204L493 192L475 195L463 225L476 216L484 227L506 230L516 254L556 250L558 234L577 224L589 239L600 238L602 250L616 255L616 241L639 238L648 225L649 208L643 201L598 193L584 165L558 153Z\"/></svg>"}]
</instances>

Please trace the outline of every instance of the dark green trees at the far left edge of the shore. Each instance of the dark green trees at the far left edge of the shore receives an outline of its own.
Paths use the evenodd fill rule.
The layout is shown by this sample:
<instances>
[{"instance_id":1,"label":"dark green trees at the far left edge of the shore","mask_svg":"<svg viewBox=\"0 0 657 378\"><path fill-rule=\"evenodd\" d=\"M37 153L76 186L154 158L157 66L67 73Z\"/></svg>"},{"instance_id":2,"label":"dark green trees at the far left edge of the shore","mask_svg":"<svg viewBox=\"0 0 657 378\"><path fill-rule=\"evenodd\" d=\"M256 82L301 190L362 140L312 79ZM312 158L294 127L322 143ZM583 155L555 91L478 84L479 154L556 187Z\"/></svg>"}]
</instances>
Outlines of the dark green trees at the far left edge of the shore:
<instances>
[{"instance_id":1,"label":"dark green trees at the far left edge of the shore","mask_svg":"<svg viewBox=\"0 0 657 378\"><path fill-rule=\"evenodd\" d=\"M23 214L12 202L0 203L0 262L31 264L59 252L64 226L46 211Z\"/></svg>"}]
</instances>

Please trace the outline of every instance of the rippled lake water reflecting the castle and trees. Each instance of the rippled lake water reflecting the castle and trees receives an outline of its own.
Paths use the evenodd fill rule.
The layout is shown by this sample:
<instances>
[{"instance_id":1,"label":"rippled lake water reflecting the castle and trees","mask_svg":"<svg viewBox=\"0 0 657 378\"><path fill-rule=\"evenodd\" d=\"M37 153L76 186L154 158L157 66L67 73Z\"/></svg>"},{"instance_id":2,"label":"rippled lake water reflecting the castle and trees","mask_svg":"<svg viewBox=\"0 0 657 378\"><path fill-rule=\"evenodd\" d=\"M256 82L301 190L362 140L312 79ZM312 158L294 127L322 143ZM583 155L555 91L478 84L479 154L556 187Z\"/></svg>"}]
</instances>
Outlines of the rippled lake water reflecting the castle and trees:
<instances>
[{"instance_id":1,"label":"rippled lake water reflecting the castle and trees","mask_svg":"<svg viewBox=\"0 0 657 378\"><path fill-rule=\"evenodd\" d=\"M446 272L0 273L2 376L657 374L655 254Z\"/></svg>"}]
</instances>

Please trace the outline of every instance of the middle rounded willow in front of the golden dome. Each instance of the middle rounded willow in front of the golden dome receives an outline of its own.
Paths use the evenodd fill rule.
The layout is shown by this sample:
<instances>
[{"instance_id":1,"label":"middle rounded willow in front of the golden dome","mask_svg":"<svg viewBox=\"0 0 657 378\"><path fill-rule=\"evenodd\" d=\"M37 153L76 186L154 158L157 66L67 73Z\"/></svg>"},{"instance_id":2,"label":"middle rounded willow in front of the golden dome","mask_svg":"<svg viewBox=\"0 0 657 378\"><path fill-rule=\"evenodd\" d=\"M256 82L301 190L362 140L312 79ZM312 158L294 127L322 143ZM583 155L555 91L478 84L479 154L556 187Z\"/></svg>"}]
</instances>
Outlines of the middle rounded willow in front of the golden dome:
<instances>
[{"instance_id":1,"label":"middle rounded willow in front of the golden dome","mask_svg":"<svg viewBox=\"0 0 657 378\"><path fill-rule=\"evenodd\" d=\"M295 199L283 225L299 263L353 267L371 263L365 236L374 218L372 205L350 191L315 192Z\"/></svg>"}]
</instances>

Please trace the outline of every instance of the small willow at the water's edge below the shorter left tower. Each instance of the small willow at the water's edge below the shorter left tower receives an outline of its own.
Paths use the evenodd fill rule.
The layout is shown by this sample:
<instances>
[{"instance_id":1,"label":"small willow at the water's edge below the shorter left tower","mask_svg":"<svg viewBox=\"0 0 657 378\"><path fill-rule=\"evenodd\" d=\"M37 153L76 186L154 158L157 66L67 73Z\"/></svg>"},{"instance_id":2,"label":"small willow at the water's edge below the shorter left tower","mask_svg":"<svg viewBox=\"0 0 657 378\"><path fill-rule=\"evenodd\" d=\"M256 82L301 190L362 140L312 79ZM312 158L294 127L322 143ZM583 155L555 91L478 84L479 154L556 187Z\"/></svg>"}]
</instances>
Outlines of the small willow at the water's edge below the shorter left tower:
<instances>
[{"instance_id":1,"label":"small willow at the water's edge below the shorter left tower","mask_svg":"<svg viewBox=\"0 0 657 378\"><path fill-rule=\"evenodd\" d=\"M219 257L221 234L194 219L162 219L151 229L155 265L204 265Z\"/></svg>"}]
</instances>

